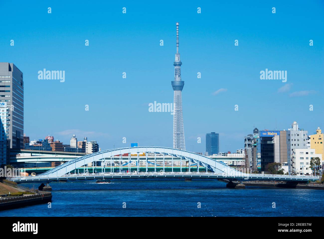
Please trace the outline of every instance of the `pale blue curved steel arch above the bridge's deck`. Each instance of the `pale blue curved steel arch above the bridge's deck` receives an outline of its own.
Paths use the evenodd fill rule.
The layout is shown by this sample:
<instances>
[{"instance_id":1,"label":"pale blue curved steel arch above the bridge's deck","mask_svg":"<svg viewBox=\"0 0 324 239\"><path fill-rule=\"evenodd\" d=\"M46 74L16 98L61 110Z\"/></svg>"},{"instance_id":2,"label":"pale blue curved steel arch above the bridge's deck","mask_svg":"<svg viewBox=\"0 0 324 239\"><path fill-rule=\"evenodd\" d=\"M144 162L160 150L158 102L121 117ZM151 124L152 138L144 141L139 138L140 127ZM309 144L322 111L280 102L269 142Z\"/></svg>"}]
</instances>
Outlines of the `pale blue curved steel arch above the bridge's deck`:
<instances>
[{"instance_id":1,"label":"pale blue curved steel arch above the bridge's deck","mask_svg":"<svg viewBox=\"0 0 324 239\"><path fill-rule=\"evenodd\" d=\"M88 154L85 156L81 156L75 158L71 161L68 161L64 164L61 164L51 170L48 170L41 175L46 175L48 177L60 177L69 172L80 168L84 165L87 165L94 161L100 161L103 158L110 158L115 155L123 155L123 154L139 154L140 152L145 152L146 157L147 153L156 153L156 154L164 154L173 157L179 157L183 160L187 160L189 162L196 163L200 166L207 168L208 170L215 172L215 173L225 173L225 174L242 174L241 172L227 166L225 163L214 160L212 158L199 155L196 153L192 153L185 150L174 149L174 148L166 148L166 147L126 147L126 148L116 148L116 149L108 149L100 152L96 152L93 154Z\"/></svg>"}]
</instances>

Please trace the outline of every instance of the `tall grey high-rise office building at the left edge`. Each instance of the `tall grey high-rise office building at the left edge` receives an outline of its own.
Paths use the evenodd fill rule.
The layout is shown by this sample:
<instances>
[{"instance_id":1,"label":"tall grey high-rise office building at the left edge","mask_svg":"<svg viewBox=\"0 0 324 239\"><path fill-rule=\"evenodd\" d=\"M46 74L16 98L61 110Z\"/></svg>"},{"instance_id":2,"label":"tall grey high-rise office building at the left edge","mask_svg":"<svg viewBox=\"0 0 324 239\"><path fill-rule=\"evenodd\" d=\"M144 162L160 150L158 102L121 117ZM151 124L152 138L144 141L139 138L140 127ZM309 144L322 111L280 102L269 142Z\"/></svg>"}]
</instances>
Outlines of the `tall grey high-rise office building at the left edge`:
<instances>
[{"instance_id":1,"label":"tall grey high-rise office building at the left edge","mask_svg":"<svg viewBox=\"0 0 324 239\"><path fill-rule=\"evenodd\" d=\"M9 111L8 140L10 148L24 147L24 82L23 73L13 64L0 62L0 102Z\"/></svg>"}]
</instances>

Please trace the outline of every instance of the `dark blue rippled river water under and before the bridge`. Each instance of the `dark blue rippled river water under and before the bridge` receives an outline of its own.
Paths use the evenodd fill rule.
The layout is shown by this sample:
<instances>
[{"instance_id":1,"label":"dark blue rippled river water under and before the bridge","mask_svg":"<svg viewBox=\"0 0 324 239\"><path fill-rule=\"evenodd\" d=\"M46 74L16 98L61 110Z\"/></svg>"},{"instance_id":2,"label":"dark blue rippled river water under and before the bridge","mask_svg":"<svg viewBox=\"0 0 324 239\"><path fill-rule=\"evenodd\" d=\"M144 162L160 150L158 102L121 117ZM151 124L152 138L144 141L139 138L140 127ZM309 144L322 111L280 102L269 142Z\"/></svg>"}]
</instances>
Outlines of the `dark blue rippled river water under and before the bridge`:
<instances>
[{"instance_id":1,"label":"dark blue rippled river water under and before the bridge","mask_svg":"<svg viewBox=\"0 0 324 239\"><path fill-rule=\"evenodd\" d=\"M37 188L39 184L24 183ZM0 211L0 216L323 216L322 190L228 189L217 180L128 179L52 182L47 204ZM201 208L198 208L198 203ZM273 202L275 208L272 208ZM126 208L123 208L126 205Z\"/></svg>"}]
</instances>

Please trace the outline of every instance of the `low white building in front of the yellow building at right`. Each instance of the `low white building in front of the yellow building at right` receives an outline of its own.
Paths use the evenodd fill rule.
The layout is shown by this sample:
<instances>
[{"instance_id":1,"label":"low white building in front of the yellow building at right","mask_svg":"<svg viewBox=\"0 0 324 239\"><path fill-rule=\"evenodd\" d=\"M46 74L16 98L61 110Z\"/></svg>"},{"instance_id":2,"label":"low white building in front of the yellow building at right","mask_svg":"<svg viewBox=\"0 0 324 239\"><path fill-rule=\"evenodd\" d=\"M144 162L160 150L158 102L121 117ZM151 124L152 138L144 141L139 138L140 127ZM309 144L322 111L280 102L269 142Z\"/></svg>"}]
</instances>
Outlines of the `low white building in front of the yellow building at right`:
<instances>
[{"instance_id":1,"label":"low white building in front of the yellow building at right","mask_svg":"<svg viewBox=\"0 0 324 239\"><path fill-rule=\"evenodd\" d=\"M315 154L315 149L302 148L292 150L292 173L300 175L312 175L310 168L310 159L313 157L320 158L320 164L322 164L322 154Z\"/></svg>"}]
</instances>

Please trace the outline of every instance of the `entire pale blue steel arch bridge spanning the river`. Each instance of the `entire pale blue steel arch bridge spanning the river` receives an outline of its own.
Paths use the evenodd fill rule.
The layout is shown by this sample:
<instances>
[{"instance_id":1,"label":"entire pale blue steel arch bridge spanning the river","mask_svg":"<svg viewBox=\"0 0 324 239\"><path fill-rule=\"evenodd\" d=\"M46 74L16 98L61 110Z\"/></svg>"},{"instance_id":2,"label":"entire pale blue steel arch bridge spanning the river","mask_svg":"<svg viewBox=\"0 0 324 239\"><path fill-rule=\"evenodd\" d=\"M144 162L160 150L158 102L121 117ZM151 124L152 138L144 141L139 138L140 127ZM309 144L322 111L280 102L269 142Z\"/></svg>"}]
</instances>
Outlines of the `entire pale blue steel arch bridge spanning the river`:
<instances>
[{"instance_id":1,"label":"entire pale blue steel arch bridge spanning the river","mask_svg":"<svg viewBox=\"0 0 324 239\"><path fill-rule=\"evenodd\" d=\"M145 172L139 172L139 155L140 153L145 153L146 156L146 170ZM163 155L164 157L176 157L180 160L189 161L189 172L165 172L164 167L162 172L148 172L148 154L154 154L155 165L156 165L156 154ZM137 155L137 171L127 172L127 173L83 173L83 174L71 174L72 171L88 165L92 162L102 161L106 158L110 160L118 155L121 157L123 154L129 155L129 162L131 160L131 154ZM197 167L203 166L206 168L206 172L199 173L191 172L191 163L196 164ZM130 164L129 164L130 165ZM163 163L164 165L164 163ZM238 171L225 163L214 160L212 158L192 153L185 150L167 148L167 147L126 147L126 148L116 148L109 149L100 152L96 152L89 155L84 155L61 164L45 173L39 174L37 176L28 177L16 177L10 180L14 182L51 182L59 180L76 180L76 179L108 179L108 178L213 178L213 179L227 179L229 181L248 181L248 180L276 180L276 181L316 181L318 177L305 176L305 175L273 175L273 174L249 174L245 172Z\"/></svg>"}]
</instances>

